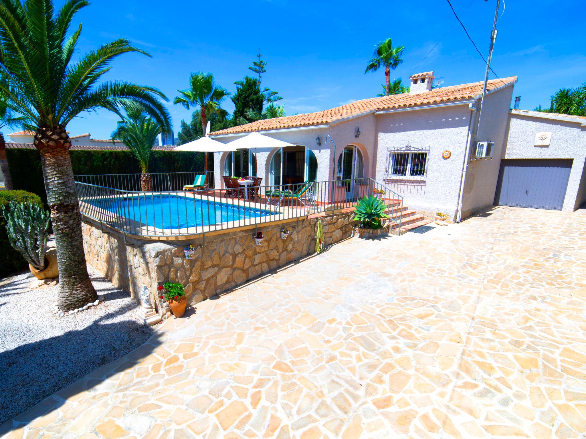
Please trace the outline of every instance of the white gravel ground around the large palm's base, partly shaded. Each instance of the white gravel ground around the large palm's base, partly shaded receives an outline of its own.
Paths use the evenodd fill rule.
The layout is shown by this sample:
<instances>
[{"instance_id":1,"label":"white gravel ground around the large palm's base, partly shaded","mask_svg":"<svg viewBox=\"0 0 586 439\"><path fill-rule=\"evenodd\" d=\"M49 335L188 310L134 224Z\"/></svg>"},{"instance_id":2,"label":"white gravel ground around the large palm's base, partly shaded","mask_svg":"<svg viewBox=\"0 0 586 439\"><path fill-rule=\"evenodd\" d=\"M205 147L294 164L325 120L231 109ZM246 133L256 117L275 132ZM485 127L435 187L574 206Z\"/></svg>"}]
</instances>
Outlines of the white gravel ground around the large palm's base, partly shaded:
<instances>
[{"instance_id":1,"label":"white gravel ground around the large palm's base, partly shaded","mask_svg":"<svg viewBox=\"0 0 586 439\"><path fill-rule=\"evenodd\" d=\"M104 301L57 317L58 286L28 289L27 271L0 280L0 424L30 409L101 365L143 344L155 327L138 306L88 266Z\"/></svg>"}]
</instances>

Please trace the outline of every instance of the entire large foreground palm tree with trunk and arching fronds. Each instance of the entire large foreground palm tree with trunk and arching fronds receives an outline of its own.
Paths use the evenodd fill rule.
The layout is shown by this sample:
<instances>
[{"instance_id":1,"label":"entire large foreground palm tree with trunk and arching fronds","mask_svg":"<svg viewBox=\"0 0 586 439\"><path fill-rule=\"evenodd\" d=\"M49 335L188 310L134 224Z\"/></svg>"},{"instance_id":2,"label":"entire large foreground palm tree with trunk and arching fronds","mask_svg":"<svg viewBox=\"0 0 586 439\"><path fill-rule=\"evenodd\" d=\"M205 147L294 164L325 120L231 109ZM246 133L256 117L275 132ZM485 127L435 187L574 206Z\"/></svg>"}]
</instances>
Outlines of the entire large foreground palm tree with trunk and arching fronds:
<instances>
[{"instance_id":1,"label":"entire large foreground palm tree with trunk and arching fronds","mask_svg":"<svg viewBox=\"0 0 586 439\"><path fill-rule=\"evenodd\" d=\"M23 126L35 131L47 191L47 204L57 245L59 308L71 310L96 299L87 274L81 236L81 214L71 169L71 140L67 124L82 112L98 109L121 116L123 107L141 109L163 126L169 112L165 98L152 87L111 80L98 83L111 61L123 53L142 50L127 39L77 56L72 61L81 25L69 34L74 15L86 0L66 0L55 11L52 0L0 0L0 93L8 108L22 115Z\"/></svg>"}]
</instances>

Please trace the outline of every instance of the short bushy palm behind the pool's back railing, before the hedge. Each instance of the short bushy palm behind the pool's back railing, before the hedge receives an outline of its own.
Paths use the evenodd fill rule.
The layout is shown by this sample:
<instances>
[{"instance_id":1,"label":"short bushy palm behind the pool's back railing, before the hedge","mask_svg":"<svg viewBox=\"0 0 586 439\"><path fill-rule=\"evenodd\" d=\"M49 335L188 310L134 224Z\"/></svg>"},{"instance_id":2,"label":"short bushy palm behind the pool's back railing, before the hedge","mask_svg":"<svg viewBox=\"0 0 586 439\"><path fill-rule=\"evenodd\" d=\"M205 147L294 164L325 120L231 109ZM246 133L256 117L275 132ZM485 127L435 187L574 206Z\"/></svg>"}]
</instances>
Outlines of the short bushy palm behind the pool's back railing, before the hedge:
<instances>
[{"instance_id":1,"label":"short bushy palm behind the pool's back railing, before the hedge","mask_svg":"<svg viewBox=\"0 0 586 439\"><path fill-rule=\"evenodd\" d=\"M152 147L156 136L163 132L161 125L154 119L138 111L129 111L118 121L112 133L112 140L118 139L128 146L138 160L141 168L141 191L152 191L152 177L148 173L148 163L152 157Z\"/></svg>"}]
</instances>

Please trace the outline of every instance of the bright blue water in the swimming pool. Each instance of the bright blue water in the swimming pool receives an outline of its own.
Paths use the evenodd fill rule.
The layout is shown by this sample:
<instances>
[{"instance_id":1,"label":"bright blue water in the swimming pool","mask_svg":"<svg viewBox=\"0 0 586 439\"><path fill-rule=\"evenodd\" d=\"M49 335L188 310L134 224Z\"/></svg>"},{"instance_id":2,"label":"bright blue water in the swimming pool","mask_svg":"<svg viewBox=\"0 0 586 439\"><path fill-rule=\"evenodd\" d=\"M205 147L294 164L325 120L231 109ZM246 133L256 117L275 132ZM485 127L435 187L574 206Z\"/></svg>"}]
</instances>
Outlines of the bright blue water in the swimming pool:
<instances>
[{"instance_id":1,"label":"bright blue water in the swimming pool","mask_svg":"<svg viewBox=\"0 0 586 439\"><path fill-rule=\"evenodd\" d=\"M226 201L194 200L175 195L99 198L86 203L161 229L214 225L227 221L260 218L278 212L251 209Z\"/></svg>"}]
</instances>

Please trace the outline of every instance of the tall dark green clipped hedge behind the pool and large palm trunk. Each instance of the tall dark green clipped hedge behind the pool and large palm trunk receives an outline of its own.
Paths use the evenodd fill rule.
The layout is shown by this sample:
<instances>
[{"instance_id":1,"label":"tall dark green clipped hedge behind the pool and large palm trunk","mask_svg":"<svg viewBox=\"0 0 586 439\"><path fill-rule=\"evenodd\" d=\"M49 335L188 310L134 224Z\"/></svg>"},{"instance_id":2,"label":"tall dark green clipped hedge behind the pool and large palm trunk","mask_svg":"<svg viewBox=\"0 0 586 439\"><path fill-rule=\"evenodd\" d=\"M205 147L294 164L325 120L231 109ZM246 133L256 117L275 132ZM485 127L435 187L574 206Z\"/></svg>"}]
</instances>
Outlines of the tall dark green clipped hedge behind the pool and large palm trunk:
<instances>
[{"instance_id":1,"label":"tall dark green clipped hedge behind the pool and large palm trunk","mask_svg":"<svg viewBox=\"0 0 586 439\"><path fill-rule=\"evenodd\" d=\"M140 173L137 160L128 151L71 151L74 175ZM36 149L6 149L6 157L16 189L38 194L47 202L43 169ZM213 169L213 166L210 166ZM203 153L155 151L150 172L191 172L204 167Z\"/></svg>"}]
</instances>

